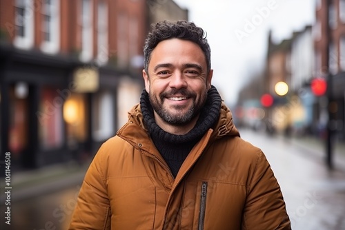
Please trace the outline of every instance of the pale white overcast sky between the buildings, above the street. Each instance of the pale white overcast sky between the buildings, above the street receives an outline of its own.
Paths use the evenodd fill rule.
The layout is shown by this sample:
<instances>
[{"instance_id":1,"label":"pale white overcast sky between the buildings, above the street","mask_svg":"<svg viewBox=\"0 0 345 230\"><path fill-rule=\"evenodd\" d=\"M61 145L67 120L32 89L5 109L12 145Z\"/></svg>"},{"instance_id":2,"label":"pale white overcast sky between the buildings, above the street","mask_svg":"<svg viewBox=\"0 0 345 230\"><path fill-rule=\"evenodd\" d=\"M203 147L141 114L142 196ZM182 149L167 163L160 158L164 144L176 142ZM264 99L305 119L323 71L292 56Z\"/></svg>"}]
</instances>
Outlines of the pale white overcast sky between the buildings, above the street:
<instances>
[{"instance_id":1,"label":"pale white overcast sky between the buildings, above the street","mask_svg":"<svg viewBox=\"0 0 345 230\"><path fill-rule=\"evenodd\" d=\"M174 1L206 30L213 85L230 105L253 72L262 70L269 29L279 42L315 21L315 0Z\"/></svg>"}]
</instances>

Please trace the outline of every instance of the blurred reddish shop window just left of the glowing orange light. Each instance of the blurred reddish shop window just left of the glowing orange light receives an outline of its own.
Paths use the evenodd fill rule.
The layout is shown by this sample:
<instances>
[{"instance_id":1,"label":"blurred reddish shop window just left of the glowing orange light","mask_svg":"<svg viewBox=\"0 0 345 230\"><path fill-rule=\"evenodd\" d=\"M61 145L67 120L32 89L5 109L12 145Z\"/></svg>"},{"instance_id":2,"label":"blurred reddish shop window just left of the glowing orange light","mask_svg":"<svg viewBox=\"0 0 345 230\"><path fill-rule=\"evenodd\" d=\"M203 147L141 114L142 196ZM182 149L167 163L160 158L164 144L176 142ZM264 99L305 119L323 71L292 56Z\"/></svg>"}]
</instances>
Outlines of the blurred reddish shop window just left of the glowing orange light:
<instances>
[{"instance_id":1,"label":"blurred reddish shop window just left of the glowing orange light","mask_svg":"<svg viewBox=\"0 0 345 230\"><path fill-rule=\"evenodd\" d=\"M39 143L42 149L54 149L63 144L63 98L57 89L43 88L39 104Z\"/></svg>"}]
</instances>

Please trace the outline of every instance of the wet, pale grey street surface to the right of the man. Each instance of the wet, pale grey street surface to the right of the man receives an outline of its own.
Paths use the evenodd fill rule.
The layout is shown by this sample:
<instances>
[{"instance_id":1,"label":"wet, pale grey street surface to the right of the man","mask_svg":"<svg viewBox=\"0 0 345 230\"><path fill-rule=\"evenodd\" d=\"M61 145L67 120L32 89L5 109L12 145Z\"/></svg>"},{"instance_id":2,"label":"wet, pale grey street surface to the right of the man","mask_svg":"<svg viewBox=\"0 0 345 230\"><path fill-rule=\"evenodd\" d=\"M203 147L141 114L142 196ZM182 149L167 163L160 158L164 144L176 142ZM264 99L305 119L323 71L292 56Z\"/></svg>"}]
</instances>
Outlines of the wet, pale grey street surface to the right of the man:
<instances>
[{"instance_id":1,"label":"wet, pale grey street surface to the right of the man","mask_svg":"<svg viewBox=\"0 0 345 230\"><path fill-rule=\"evenodd\" d=\"M246 129L241 134L266 154L293 229L345 229L344 146L337 145L334 169L328 170L320 141L266 136Z\"/></svg>"}]
</instances>

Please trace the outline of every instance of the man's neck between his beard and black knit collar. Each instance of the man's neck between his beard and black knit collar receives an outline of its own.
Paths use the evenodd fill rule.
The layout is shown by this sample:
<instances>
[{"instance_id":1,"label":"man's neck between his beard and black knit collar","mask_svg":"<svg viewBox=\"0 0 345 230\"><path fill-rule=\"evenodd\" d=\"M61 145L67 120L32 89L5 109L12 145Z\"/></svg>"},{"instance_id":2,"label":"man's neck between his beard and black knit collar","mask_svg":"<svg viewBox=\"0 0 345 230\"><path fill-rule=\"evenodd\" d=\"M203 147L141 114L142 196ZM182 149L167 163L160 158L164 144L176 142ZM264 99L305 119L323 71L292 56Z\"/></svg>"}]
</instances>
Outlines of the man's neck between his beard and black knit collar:
<instances>
[{"instance_id":1,"label":"man's neck between his beard and black knit collar","mask_svg":"<svg viewBox=\"0 0 345 230\"><path fill-rule=\"evenodd\" d=\"M193 129L195 124L197 123L197 119L199 116L196 116L193 118L189 123L186 123L184 125L171 125L169 123L166 123L156 112L155 114L155 122L161 129L163 129L165 132L168 132L169 134L175 134L175 135L184 135L190 132L190 130Z\"/></svg>"}]
</instances>

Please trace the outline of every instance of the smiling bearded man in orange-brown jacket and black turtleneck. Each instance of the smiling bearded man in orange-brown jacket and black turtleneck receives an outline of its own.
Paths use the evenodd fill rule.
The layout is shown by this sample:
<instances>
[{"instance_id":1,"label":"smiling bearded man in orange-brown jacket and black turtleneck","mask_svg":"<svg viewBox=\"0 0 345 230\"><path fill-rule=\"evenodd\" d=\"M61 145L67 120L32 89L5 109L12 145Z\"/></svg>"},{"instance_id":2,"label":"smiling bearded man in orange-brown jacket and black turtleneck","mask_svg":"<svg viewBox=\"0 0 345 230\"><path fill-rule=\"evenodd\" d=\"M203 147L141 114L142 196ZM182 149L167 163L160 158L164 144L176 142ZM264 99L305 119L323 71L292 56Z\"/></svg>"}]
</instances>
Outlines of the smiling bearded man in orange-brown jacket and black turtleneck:
<instances>
[{"instance_id":1,"label":"smiling bearded man in orange-brown jacket and black turtleneck","mask_svg":"<svg viewBox=\"0 0 345 230\"><path fill-rule=\"evenodd\" d=\"M140 103L86 173L70 229L290 229L264 154L211 85L204 31L152 25L143 76Z\"/></svg>"}]
</instances>

